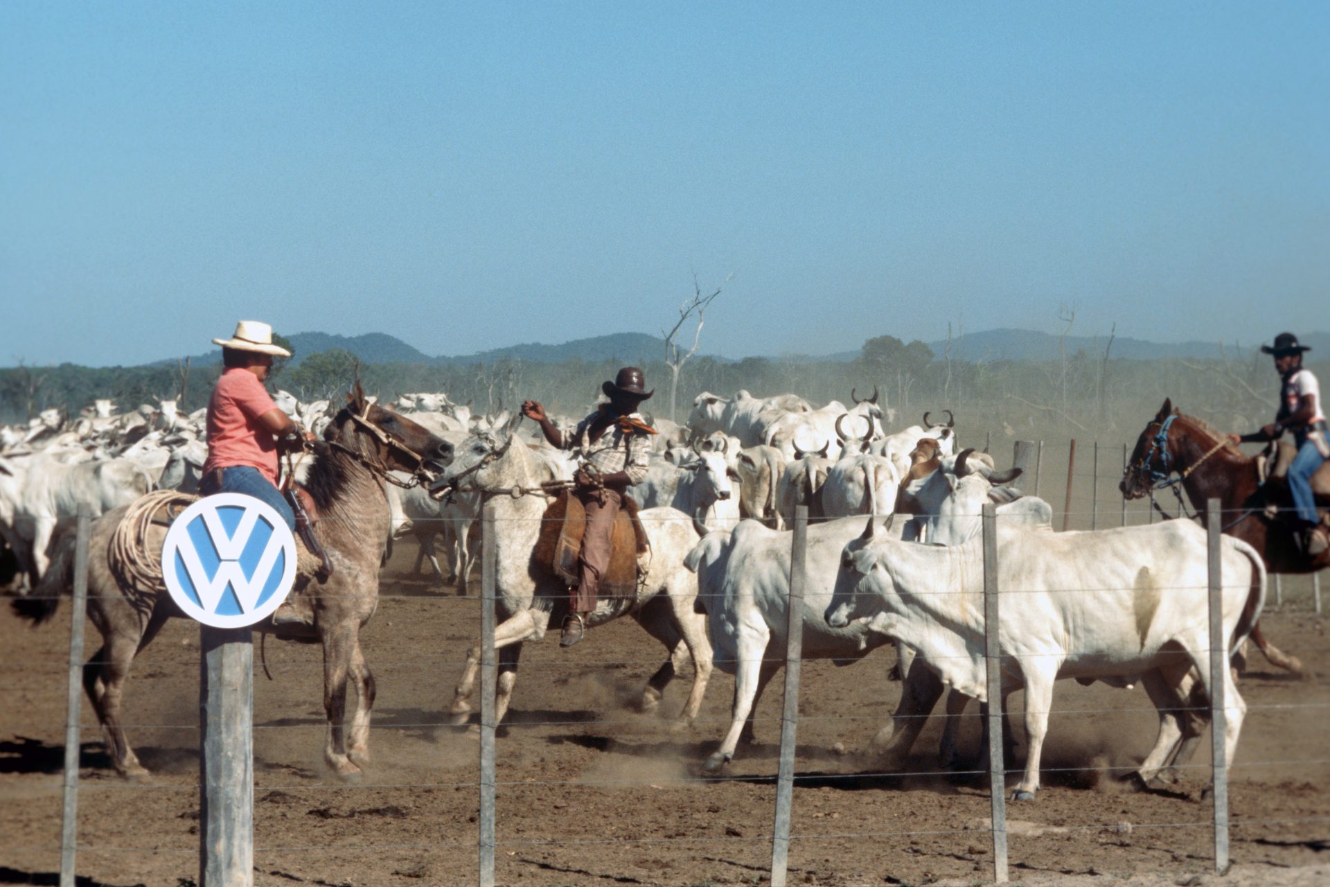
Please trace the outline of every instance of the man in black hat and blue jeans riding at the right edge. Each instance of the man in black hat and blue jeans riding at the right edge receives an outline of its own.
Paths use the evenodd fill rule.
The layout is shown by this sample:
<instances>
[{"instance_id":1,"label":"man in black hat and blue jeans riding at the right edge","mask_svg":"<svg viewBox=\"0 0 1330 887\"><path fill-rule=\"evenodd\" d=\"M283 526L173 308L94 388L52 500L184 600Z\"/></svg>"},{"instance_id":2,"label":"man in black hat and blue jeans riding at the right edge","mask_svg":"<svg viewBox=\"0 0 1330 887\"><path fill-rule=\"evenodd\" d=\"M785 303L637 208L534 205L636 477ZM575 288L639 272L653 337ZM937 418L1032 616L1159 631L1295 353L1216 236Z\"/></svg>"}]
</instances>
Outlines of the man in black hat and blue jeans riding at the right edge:
<instances>
[{"instance_id":1,"label":"man in black hat and blue jeans riding at the right edge","mask_svg":"<svg viewBox=\"0 0 1330 887\"><path fill-rule=\"evenodd\" d=\"M1311 348L1299 344L1298 336L1281 332L1274 344L1262 344L1261 351L1274 355L1274 368L1279 372L1279 411L1274 422L1249 435L1229 435L1245 443L1278 440L1285 431L1293 432L1298 455L1289 465L1289 492L1302 524L1298 541L1311 556L1330 547L1330 535L1321 525L1317 500L1311 492L1311 475L1330 459L1330 440L1326 439L1326 416L1321 408L1321 386L1310 370L1302 367L1302 352Z\"/></svg>"}]
</instances>

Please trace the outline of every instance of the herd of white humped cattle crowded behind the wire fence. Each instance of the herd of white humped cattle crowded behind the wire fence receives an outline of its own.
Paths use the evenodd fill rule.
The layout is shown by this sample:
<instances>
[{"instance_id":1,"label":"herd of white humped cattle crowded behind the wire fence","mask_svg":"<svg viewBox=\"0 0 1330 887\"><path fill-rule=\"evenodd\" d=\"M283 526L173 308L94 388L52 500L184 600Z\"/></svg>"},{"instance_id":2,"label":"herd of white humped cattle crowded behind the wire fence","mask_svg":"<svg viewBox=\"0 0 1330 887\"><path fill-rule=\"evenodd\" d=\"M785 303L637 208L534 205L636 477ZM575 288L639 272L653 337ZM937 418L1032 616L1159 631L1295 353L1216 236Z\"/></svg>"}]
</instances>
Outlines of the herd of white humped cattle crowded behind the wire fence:
<instances>
[{"instance_id":1,"label":"herd of white humped cattle crowded behind the wire fence","mask_svg":"<svg viewBox=\"0 0 1330 887\"><path fill-rule=\"evenodd\" d=\"M692 719L713 665L733 673L733 721L706 766L733 758L783 660L790 528L795 508L806 505L815 525L806 555L803 656L846 662L896 645L904 690L894 723L875 745L899 759L944 694L948 714L971 698L986 701L979 515L992 501L1000 584L1011 592L999 628L1003 696L1027 692L1029 753L1017 797L1032 798L1039 787L1056 678L1144 686L1158 709L1160 734L1140 767L1142 779L1185 757L1210 689L1204 531L1169 521L1055 533L1048 504L1009 485L1019 472L999 472L987 453L958 451L950 412L946 423L924 414L922 424L898 430L876 391L867 399L855 395L847 408L839 402L814 407L794 395L704 392L685 426L654 420L660 434L652 465L630 492L652 537L644 577L662 578L650 588L644 578L630 614L665 644L669 660L644 702L658 701L673 666L690 658L694 685L684 718ZM326 402L303 404L286 392L277 400L315 434L330 419ZM442 394L403 395L390 406L446 442L452 457L446 481L467 475L483 489L504 491L572 475L565 453L545 447L532 426L523 432L520 416L471 415ZM553 419L567 428L577 418ZM36 586L56 536L80 508L96 516L153 488L193 491L206 457L203 419L203 411L182 415L169 400L124 414L98 400L72 422L48 411L25 427L0 430L0 531L19 565L11 590ZM476 535L467 531L484 496L475 488L438 497L438 489L431 495L419 487L386 492L392 535L420 543L416 570L428 557L440 580L466 593L477 553ZM491 501L540 508L508 496ZM511 531L499 532L528 532L517 528L521 521L511 523ZM439 540L447 572L436 557ZM501 551L527 544L525 537L519 541ZM1238 540L1225 537L1222 556L1224 644L1236 650L1260 618L1266 574L1257 553ZM524 586L529 578L512 580L521 588L504 581L500 576L504 624L496 637L509 648L512 668L499 685L500 717L516 678L515 649L539 640L551 618L548 602ZM657 594L669 606L649 605ZM473 665L468 662L469 678ZM1232 676L1224 690L1232 761L1244 703ZM459 721L468 710L467 693L464 677L452 706ZM944 755L955 750L956 722L948 718Z\"/></svg>"}]
</instances>

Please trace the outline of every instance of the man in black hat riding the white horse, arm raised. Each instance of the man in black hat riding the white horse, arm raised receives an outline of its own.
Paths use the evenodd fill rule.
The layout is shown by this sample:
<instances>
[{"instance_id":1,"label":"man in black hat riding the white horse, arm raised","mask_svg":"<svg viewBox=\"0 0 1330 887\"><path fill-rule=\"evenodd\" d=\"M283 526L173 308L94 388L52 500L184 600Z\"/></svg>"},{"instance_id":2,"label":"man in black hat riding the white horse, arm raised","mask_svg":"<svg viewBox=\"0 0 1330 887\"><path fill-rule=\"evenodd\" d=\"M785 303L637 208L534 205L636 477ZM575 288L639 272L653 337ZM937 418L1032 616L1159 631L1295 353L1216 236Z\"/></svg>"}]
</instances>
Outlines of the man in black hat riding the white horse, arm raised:
<instances>
[{"instance_id":1,"label":"man in black hat riding the white horse, arm raised","mask_svg":"<svg viewBox=\"0 0 1330 887\"><path fill-rule=\"evenodd\" d=\"M572 590L569 616L564 620L559 642L572 646L583 638L587 617L596 609L600 577L613 553L614 515L622 504L624 491L646 476L650 453L649 435L656 430L637 406L654 391L645 391L642 371L624 367L613 382L601 386L609 396L564 438L535 400L521 404L521 415L540 423L545 440L559 449L576 449L581 467L573 473L573 495L587 509L581 557L577 563L577 588Z\"/></svg>"}]
</instances>

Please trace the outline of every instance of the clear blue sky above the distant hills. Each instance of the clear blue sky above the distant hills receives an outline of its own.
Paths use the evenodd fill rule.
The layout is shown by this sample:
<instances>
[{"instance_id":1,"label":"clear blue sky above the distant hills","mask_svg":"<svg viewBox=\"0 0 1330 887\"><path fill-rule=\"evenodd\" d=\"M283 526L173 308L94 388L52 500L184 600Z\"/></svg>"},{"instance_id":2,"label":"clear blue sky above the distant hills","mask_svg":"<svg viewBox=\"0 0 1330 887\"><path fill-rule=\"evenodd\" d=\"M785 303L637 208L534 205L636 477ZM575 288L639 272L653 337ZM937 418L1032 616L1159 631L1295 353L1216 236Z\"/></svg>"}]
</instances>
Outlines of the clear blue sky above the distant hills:
<instances>
[{"instance_id":1,"label":"clear blue sky above the distant hills","mask_svg":"<svg viewBox=\"0 0 1330 887\"><path fill-rule=\"evenodd\" d=\"M0 364L1326 328L1330 5L0 4ZM1313 306L1321 307L1314 313Z\"/></svg>"}]
</instances>

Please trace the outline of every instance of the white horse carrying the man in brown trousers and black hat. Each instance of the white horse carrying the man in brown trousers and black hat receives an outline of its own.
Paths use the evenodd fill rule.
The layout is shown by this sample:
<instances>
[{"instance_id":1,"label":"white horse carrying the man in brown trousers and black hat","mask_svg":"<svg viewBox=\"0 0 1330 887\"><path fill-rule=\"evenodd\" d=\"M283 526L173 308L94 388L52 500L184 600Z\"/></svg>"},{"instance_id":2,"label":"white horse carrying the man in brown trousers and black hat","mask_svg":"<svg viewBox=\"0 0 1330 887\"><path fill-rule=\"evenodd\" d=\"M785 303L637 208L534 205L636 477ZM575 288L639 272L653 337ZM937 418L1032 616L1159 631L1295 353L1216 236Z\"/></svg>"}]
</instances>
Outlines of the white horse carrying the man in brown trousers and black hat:
<instances>
[{"instance_id":1,"label":"white horse carrying the man in brown trousers and black hat","mask_svg":"<svg viewBox=\"0 0 1330 887\"><path fill-rule=\"evenodd\" d=\"M512 699L521 645L543 638L551 617L561 618L568 612L568 590L552 572L536 569L532 564L548 500L540 495L541 472L531 448L516 435L503 439L484 432L467 438L456 448L448 447L446 457L451 464L434 492L505 493L487 496L495 517L495 588L499 594L499 626L495 629L495 649L499 656L495 699L497 723ZM517 497L507 495L513 488L529 492ZM587 624L596 626L630 614L665 645L669 656L642 693L641 705L648 711L660 703L676 670L692 658L693 689L680 715L681 723L689 723L697 717L712 674L712 645L706 640L706 622L693 610L697 580L682 565L684 555L697 541L697 533L688 515L673 508L648 508L640 516L650 543L650 559L638 582L637 597L601 597ZM480 648L475 646L467 652L467 664L450 709L456 725L466 723L471 711L467 697L475 688L479 670Z\"/></svg>"}]
</instances>

